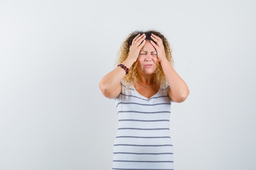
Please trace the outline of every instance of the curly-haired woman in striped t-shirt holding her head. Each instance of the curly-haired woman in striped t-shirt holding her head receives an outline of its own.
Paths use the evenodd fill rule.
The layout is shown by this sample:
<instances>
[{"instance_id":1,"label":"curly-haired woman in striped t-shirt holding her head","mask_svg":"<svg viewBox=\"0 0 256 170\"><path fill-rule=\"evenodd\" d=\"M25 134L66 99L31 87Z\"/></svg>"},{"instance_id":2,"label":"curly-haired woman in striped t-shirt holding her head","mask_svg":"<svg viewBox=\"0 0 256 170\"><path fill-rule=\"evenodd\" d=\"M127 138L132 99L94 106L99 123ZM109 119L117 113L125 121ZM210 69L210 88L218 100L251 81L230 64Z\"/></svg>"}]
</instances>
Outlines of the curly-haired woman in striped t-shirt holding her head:
<instances>
[{"instance_id":1,"label":"curly-haired woman in striped t-shirt holding her head","mask_svg":"<svg viewBox=\"0 0 256 170\"><path fill-rule=\"evenodd\" d=\"M168 41L157 31L133 32L117 62L99 83L118 110L112 169L173 170L171 102L183 102L189 88L173 69Z\"/></svg>"}]
</instances>

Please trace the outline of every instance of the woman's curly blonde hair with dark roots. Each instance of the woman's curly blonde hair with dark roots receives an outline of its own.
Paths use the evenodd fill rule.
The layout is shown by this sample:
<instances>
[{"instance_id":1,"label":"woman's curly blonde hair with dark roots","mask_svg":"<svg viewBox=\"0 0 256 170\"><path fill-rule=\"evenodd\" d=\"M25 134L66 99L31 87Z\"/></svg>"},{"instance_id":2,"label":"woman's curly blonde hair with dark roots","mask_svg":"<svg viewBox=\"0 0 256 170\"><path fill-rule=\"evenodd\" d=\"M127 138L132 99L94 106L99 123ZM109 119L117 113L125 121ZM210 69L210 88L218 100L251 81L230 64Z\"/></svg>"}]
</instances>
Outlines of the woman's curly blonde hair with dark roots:
<instances>
[{"instance_id":1,"label":"woman's curly blonde hair with dark roots","mask_svg":"<svg viewBox=\"0 0 256 170\"><path fill-rule=\"evenodd\" d=\"M123 63L126 60L126 58L128 57L130 45L132 44L132 40L138 34L142 35L143 33L145 33L146 40L148 40L148 41L152 40L150 38L151 33L153 33L154 35L157 35L159 38L162 39L163 44L164 44L166 58L171 63L171 65L174 66L173 57L171 55L172 50L170 48L170 44L169 44L168 40L164 37L164 35L162 35L161 33L157 32L157 31L154 31L154 30L150 30L150 31L146 31L146 32L134 31L134 32L130 33L130 35L128 35L128 37L121 44L121 47L117 54L116 66L118 64ZM155 41L153 41L153 42L155 42ZM123 79L123 83L126 84L127 86L132 85L133 83L138 84L138 72L136 69L137 64L138 64L138 60L132 64L131 68L129 69L129 73ZM164 75L164 71L162 69L161 64L158 64L156 71L154 73L154 86L159 87L164 84L166 84L166 77Z\"/></svg>"}]
</instances>

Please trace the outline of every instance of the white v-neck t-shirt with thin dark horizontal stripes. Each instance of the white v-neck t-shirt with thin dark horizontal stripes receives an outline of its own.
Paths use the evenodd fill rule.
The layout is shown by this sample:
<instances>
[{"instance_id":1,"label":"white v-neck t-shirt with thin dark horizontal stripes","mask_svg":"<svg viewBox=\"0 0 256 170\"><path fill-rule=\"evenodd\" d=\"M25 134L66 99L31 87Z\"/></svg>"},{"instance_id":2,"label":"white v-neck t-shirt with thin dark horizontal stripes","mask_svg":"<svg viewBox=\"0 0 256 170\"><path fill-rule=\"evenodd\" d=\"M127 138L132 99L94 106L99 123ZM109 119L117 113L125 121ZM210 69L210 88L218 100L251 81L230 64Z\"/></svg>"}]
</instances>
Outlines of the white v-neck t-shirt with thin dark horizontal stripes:
<instances>
[{"instance_id":1,"label":"white v-neck t-shirt with thin dark horizontal stripes","mask_svg":"<svg viewBox=\"0 0 256 170\"><path fill-rule=\"evenodd\" d=\"M132 86L115 99L118 130L113 170L173 170L168 85L149 99Z\"/></svg>"}]
</instances>

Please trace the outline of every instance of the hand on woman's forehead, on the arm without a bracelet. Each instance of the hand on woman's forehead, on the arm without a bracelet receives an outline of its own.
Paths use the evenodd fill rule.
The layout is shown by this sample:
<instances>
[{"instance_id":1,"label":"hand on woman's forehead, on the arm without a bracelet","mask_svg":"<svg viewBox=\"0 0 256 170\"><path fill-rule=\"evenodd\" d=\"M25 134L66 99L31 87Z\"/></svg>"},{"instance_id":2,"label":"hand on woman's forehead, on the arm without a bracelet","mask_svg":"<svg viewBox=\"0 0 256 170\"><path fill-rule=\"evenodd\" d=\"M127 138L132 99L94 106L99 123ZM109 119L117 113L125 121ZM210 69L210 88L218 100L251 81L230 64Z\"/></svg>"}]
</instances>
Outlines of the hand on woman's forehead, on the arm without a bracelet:
<instances>
[{"instance_id":1,"label":"hand on woman's forehead, on the arm without a bracelet","mask_svg":"<svg viewBox=\"0 0 256 170\"><path fill-rule=\"evenodd\" d=\"M157 58L158 62L162 62L166 59L165 51L164 51L164 44L161 38L157 37L154 34L151 34L150 36L152 40L154 40L157 44L155 44L153 41L150 41L150 43L155 47L157 51Z\"/></svg>"}]
</instances>

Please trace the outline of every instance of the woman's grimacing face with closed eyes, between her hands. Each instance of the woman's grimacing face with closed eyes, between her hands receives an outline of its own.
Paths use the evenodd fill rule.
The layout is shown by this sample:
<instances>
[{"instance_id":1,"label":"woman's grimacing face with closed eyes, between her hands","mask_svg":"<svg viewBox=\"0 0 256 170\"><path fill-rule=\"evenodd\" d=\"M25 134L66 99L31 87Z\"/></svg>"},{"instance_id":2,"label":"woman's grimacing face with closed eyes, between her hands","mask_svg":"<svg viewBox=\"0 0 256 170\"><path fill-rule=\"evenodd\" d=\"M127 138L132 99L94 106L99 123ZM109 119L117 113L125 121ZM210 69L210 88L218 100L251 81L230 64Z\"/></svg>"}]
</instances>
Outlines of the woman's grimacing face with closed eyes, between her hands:
<instances>
[{"instance_id":1,"label":"woman's grimacing face with closed eyes, between her hands","mask_svg":"<svg viewBox=\"0 0 256 170\"><path fill-rule=\"evenodd\" d=\"M157 51L149 41L146 41L139 52L137 64L139 75L153 74L157 68L157 64Z\"/></svg>"}]
</instances>

